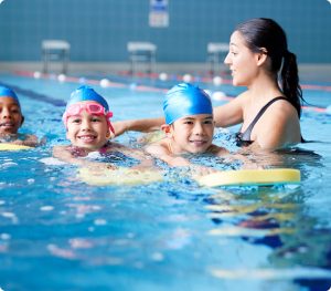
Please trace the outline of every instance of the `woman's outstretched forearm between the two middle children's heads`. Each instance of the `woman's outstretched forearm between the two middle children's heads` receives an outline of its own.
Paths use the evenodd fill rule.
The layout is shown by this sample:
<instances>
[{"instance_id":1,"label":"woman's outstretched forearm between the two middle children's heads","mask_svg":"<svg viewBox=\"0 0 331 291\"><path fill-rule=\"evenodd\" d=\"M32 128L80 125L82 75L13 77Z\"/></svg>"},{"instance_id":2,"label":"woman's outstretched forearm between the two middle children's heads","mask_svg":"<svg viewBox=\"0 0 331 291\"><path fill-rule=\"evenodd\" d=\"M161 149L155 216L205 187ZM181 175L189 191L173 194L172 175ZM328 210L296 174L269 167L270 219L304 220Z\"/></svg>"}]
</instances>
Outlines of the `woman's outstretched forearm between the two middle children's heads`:
<instances>
[{"instance_id":1,"label":"woman's outstretched forearm between the two middle children's heads","mask_svg":"<svg viewBox=\"0 0 331 291\"><path fill-rule=\"evenodd\" d=\"M130 121L121 121L113 123L115 128L115 135L121 135L125 132L134 131L134 132L152 132L160 129L160 126L164 124L163 117L158 118L147 118L147 119L130 119Z\"/></svg>"}]
</instances>

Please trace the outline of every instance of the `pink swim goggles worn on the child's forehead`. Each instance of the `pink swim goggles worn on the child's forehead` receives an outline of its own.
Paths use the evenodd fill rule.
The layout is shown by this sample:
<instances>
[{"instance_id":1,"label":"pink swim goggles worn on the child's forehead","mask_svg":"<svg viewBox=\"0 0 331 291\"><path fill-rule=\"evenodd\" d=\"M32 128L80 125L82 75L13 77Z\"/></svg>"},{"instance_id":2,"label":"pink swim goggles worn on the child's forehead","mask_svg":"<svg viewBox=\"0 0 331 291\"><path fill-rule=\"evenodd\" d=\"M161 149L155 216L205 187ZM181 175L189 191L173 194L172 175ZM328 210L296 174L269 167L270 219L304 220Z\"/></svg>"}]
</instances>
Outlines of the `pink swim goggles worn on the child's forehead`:
<instances>
[{"instance_id":1,"label":"pink swim goggles worn on the child's forehead","mask_svg":"<svg viewBox=\"0 0 331 291\"><path fill-rule=\"evenodd\" d=\"M66 126L68 117L79 115L84 110L92 115L105 115L110 132L115 134L114 127L109 121L109 118L113 117L113 112L106 112L105 107L97 103L76 103L70 105L62 116L64 125Z\"/></svg>"}]
</instances>

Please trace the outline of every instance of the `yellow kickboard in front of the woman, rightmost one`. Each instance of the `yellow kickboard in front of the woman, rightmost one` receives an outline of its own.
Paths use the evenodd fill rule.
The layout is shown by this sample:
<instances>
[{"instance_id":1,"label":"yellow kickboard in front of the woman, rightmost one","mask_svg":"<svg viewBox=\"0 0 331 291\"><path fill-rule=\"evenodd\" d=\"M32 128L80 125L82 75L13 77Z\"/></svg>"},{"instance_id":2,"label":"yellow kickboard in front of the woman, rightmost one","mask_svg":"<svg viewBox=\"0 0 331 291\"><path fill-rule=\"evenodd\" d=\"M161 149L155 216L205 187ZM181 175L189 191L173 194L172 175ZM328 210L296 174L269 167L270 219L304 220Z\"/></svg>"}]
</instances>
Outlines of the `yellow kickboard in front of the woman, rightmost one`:
<instances>
[{"instance_id":1,"label":"yellow kickboard in front of the woman, rightmost one","mask_svg":"<svg viewBox=\"0 0 331 291\"><path fill-rule=\"evenodd\" d=\"M300 170L291 168L224 170L197 179L201 186L274 185L300 183Z\"/></svg>"}]
</instances>

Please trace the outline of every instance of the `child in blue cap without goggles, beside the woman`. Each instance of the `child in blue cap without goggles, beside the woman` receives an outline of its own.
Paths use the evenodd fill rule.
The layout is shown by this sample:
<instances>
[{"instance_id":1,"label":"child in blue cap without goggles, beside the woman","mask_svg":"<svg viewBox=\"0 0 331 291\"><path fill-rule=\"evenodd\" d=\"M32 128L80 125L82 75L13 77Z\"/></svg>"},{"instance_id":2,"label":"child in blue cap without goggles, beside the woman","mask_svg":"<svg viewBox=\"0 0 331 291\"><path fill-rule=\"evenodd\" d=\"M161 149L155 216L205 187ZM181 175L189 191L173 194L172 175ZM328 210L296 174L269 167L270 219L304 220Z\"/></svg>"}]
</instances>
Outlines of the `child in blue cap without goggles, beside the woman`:
<instances>
[{"instance_id":1,"label":"child in blue cap without goggles, beside the woman","mask_svg":"<svg viewBox=\"0 0 331 291\"><path fill-rule=\"evenodd\" d=\"M163 102L166 137L146 150L170 166L190 166L182 154L210 153L228 156L227 149L213 145L214 119L210 96L200 87L181 83L168 91ZM241 156L234 156L243 159Z\"/></svg>"}]
</instances>

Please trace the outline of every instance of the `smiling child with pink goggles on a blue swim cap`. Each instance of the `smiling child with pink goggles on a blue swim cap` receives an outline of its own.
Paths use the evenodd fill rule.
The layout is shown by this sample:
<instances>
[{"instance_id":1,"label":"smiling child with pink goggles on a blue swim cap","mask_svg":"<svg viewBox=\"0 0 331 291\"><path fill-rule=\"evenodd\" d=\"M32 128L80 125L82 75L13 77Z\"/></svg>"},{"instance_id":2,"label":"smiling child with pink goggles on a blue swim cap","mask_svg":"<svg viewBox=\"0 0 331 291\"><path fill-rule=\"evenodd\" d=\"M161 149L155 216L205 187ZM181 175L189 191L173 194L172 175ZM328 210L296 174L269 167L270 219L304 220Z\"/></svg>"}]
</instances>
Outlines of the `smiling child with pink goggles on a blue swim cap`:
<instances>
[{"instance_id":1,"label":"smiling child with pink goggles on a blue swim cap","mask_svg":"<svg viewBox=\"0 0 331 291\"><path fill-rule=\"evenodd\" d=\"M102 165L114 168L111 164L102 164L82 159L79 157L90 156L90 153L98 152L103 160L111 157L111 163L124 160L124 155L143 160L140 167L151 165L151 160L137 149L129 149L120 144L110 143L108 139L115 134L107 101L89 86L81 86L71 94L71 98L63 114L63 123L66 127L66 137L71 141L68 146L55 146L53 156L75 165L96 166ZM109 155L113 153L113 155Z\"/></svg>"}]
</instances>

